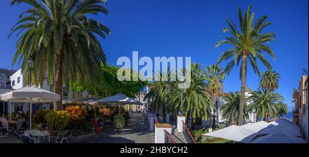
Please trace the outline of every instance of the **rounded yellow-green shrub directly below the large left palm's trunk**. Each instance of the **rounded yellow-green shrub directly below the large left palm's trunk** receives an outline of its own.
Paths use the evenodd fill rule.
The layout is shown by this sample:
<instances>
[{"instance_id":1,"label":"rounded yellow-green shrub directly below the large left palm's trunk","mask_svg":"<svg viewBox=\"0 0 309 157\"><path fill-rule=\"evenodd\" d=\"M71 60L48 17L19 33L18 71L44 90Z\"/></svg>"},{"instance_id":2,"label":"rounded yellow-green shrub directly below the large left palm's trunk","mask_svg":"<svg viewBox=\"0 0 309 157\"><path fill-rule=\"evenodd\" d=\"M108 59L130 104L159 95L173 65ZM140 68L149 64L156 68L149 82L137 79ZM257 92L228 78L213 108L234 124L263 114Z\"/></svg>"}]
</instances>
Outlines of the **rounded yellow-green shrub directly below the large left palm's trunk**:
<instances>
[{"instance_id":1,"label":"rounded yellow-green shrub directly below the large left palm's trunk","mask_svg":"<svg viewBox=\"0 0 309 157\"><path fill-rule=\"evenodd\" d=\"M50 111L46 115L49 128L56 131L63 131L69 128L70 117L65 110Z\"/></svg>"}]
</instances>

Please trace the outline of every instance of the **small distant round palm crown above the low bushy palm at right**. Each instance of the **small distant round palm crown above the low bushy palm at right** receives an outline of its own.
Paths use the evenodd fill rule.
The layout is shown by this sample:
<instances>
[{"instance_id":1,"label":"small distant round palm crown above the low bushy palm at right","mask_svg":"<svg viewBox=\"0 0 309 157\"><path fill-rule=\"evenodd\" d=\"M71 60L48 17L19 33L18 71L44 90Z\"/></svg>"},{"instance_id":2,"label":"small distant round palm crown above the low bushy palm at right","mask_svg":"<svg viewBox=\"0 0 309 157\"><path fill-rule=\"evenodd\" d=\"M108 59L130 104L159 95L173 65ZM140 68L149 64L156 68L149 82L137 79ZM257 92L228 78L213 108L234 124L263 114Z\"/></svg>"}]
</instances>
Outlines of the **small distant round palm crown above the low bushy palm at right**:
<instances>
[{"instance_id":1,"label":"small distant round palm crown above the low bushy palm at right","mask_svg":"<svg viewBox=\"0 0 309 157\"><path fill-rule=\"evenodd\" d=\"M260 77L259 87L264 90L277 90L279 88L279 79L279 73L272 70L266 71Z\"/></svg>"}]
</instances>

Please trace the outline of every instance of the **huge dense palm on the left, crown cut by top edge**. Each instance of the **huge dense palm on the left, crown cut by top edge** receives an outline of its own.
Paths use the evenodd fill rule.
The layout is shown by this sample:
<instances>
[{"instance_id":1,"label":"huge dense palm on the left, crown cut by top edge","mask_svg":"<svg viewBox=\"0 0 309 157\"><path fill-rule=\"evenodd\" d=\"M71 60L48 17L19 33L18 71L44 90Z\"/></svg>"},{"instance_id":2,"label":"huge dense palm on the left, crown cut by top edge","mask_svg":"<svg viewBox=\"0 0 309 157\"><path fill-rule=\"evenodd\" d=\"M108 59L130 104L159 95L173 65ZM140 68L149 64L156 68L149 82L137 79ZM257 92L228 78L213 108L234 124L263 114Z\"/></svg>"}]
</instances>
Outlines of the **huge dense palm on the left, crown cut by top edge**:
<instances>
[{"instance_id":1,"label":"huge dense palm on the left, crown cut by top edge","mask_svg":"<svg viewBox=\"0 0 309 157\"><path fill-rule=\"evenodd\" d=\"M27 59L34 59L35 84L47 81L54 84L54 92L62 96L62 85L76 86L88 83L100 71L106 58L97 38L105 38L109 29L91 19L87 14L107 14L104 0L13 0L31 6L23 12L12 28L12 33L22 35L16 43L12 64L22 62L27 69ZM10 35L11 35L10 34ZM10 37L9 35L9 37ZM97 36L96 36L97 35ZM54 110L62 110L62 100L54 104Z\"/></svg>"}]
</instances>

